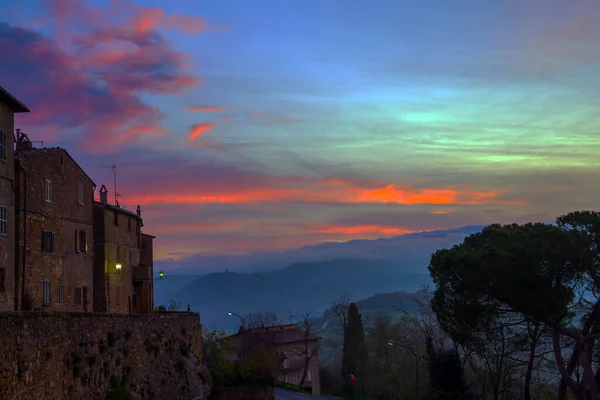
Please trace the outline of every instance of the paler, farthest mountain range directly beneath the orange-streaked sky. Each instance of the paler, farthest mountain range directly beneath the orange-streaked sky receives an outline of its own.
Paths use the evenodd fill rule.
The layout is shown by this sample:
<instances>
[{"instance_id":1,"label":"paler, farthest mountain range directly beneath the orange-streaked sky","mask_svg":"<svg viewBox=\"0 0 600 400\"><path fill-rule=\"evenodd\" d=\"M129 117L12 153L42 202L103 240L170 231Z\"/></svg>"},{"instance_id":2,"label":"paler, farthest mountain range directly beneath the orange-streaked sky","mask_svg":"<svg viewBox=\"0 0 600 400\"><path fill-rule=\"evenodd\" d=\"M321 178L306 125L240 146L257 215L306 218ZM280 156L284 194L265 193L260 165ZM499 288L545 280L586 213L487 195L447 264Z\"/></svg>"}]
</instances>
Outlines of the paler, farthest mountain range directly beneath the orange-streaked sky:
<instances>
[{"instance_id":1,"label":"paler, farthest mountain range directly beneath the orange-streaked sky","mask_svg":"<svg viewBox=\"0 0 600 400\"><path fill-rule=\"evenodd\" d=\"M328 261L340 258L397 260L402 265L420 265L421 273L429 257L438 249L462 242L465 236L479 232L483 226L411 233L376 240L351 240L322 243L279 252L247 255L197 255L183 260L155 262L155 270L174 270L177 275L209 272L267 272L297 262Z\"/></svg>"}]
</instances>

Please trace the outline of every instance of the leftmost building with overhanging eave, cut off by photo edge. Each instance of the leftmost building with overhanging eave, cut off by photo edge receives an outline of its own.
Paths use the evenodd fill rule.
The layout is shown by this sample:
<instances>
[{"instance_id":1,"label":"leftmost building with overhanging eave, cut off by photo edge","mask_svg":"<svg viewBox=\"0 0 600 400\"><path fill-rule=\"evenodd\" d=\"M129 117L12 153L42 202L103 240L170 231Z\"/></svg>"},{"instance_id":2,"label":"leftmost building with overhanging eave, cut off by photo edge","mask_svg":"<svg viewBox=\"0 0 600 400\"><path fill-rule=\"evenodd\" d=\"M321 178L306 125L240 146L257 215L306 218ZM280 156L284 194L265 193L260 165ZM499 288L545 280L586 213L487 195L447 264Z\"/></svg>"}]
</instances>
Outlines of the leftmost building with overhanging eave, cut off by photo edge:
<instances>
[{"instance_id":1,"label":"leftmost building with overhanging eave, cut off by photo edge","mask_svg":"<svg viewBox=\"0 0 600 400\"><path fill-rule=\"evenodd\" d=\"M15 114L29 112L0 86L0 311L16 310L15 293Z\"/></svg>"}]
</instances>

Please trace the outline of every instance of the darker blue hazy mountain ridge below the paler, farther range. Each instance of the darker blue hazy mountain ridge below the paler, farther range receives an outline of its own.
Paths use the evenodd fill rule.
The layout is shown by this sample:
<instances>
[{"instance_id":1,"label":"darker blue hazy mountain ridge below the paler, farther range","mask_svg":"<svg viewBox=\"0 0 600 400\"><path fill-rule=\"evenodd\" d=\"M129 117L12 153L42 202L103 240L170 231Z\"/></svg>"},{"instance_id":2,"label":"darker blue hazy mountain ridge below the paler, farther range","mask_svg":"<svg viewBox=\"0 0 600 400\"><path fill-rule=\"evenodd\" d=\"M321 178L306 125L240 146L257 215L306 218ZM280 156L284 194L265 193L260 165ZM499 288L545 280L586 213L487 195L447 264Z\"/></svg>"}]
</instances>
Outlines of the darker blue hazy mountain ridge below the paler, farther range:
<instances>
[{"instance_id":1,"label":"darker blue hazy mountain ridge below the paler, farther range","mask_svg":"<svg viewBox=\"0 0 600 400\"><path fill-rule=\"evenodd\" d=\"M338 259L295 263L260 274L212 273L170 297L199 311L209 328L235 329L239 321L228 316L228 311L244 315L270 310L287 321L290 313L299 316L308 309L321 313L343 294L361 299L382 292L415 292L431 283L428 274L415 273L424 268L418 267L397 260Z\"/></svg>"}]
</instances>

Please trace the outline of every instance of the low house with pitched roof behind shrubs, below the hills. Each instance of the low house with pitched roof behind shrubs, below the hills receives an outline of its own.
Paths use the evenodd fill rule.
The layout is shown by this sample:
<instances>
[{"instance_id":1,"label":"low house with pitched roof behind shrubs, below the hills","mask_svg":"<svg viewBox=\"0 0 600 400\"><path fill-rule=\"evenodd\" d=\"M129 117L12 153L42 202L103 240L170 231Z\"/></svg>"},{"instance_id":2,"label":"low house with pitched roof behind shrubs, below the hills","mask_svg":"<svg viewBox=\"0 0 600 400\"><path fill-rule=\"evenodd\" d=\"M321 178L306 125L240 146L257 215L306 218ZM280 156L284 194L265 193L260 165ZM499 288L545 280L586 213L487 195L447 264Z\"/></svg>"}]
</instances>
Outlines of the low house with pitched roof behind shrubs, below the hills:
<instances>
[{"instance_id":1,"label":"low house with pitched roof behind shrubs, below the hills","mask_svg":"<svg viewBox=\"0 0 600 400\"><path fill-rule=\"evenodd\" d=\"M306 363L305 355L310 356L305 387L312 389L314 396L319 396L321 385L319 381L319 340L315 334L298 329L295 324L277 325L263 328L252 328L221 339L228 343L231 349L226 353L229 360L239 362L243 359L244 348L254 343L268 343L279 356L280 364L277 380L280 382L299 385ZM246 346L244 346L246 344Z\"/></svg>"}]
</instances>

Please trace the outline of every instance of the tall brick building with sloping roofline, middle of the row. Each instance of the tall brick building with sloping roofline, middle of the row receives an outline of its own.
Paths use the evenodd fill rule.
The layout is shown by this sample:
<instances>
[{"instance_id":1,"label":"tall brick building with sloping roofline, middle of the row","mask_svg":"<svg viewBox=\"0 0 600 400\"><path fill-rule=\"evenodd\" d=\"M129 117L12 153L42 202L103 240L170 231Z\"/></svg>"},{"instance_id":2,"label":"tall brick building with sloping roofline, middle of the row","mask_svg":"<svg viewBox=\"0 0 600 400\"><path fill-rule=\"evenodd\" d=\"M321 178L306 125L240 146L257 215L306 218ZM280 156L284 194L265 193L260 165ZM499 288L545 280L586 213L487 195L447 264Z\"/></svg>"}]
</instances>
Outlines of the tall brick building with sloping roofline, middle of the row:
<instances>
[{"instance_id":1,"label":"tall brick building with sloping roofline, middle of the row","mask_svg":"<svg viewBox=\"0 0 600 400\"><path fill-rule=\"evenodd\" d=\"M16 147L19 306L92 312L95 184L65 149Z\"/></svg>"}]
</instances>

